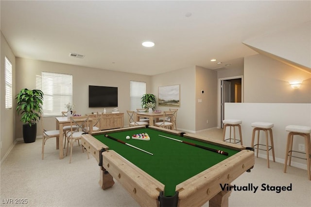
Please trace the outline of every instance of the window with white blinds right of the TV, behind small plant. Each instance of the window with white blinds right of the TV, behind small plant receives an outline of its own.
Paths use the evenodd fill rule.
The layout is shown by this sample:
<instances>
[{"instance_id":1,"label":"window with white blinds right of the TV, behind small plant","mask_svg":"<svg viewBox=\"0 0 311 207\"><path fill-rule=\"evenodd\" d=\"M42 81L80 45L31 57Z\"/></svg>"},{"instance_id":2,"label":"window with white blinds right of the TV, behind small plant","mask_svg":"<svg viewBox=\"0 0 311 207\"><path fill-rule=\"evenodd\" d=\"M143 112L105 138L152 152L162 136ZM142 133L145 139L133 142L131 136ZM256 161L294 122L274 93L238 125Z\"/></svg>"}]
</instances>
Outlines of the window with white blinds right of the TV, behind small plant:
<instances>
[{"instance_id":1,"label":"window with white blinds right of the TV, behind small plant","mask_svg":"<svg viewBox=\"0 0 311 207\"><path fill-rule=\"evenodd\" d=\"M141 97L146 93L146 83L138 81L130 81L130 102L131 110L136 111L141 108Z\"/></svg>"}]
</instances>

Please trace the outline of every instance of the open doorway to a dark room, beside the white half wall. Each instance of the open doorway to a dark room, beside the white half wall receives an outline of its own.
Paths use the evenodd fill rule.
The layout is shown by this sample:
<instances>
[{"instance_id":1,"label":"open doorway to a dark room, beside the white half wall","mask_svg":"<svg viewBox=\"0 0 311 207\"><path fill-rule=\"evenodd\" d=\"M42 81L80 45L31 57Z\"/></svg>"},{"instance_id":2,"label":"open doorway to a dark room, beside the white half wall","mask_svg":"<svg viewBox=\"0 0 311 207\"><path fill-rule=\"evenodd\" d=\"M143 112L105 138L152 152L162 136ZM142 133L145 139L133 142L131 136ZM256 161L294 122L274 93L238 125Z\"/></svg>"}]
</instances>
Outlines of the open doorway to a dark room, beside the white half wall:
<instances>
[{"instance_id":1,"label":"open doorway to a dark room, beside the white half wall","mask_svg":"<svg viewBox=\"0 0 311 207\"><path fill-rule=\"evenodd\" d=\"M243 102L243 76L218 79L218 127L223 128L225 103Z\"/></svg>"}]
</instances>

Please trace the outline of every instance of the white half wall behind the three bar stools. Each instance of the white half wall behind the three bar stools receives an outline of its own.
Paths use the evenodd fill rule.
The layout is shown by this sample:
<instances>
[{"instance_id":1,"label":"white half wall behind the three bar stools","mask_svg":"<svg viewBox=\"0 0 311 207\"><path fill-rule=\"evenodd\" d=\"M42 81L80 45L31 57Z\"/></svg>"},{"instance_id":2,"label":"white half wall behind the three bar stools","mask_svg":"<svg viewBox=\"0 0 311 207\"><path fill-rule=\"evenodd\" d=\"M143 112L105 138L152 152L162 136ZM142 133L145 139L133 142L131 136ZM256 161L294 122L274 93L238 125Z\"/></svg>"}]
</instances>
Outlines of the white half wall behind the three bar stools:
<instances>
[{"instance_id":1,"label":"white half wall behind the three bar stools","mask_svg":"<svg viewBox=\"0 0 311 207\"><path fill-rule=\"evenodd\" d=\"M251 123L266 121L274 123L273 139L276 162L284 163L287 134L287 125L311 126L311 104L282 104L282 103L225 103L225 119L242 120L242 138L244 146L251 146ZM238 137L238 132L236 132ZM226 138L229 136L227 127ZM260 133L260 143L265 143L264 133ZM298 143L304 144L304 138L295 136L293 149L298 150ZM259 150L260 157L266 158L266 152ZM269 151L269 155L272 152ZM272 160L272 157L271 157ZM293 166L307 169L306 161L292 158Z\"/></svg>"}]
</instances>

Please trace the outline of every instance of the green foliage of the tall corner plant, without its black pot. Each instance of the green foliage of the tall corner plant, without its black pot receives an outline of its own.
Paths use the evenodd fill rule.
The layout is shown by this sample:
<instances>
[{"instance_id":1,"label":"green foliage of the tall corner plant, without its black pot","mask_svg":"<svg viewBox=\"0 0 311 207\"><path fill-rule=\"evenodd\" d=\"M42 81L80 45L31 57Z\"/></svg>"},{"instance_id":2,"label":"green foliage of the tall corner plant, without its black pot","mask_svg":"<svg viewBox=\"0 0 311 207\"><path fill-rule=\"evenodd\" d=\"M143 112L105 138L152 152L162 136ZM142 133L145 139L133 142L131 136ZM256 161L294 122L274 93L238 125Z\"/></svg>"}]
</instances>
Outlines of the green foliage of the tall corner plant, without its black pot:
<instances>
[{"instance_id":1,"label":"green foliage of the tall corner plant, without its black pot","mask_svg":"<svg viewBox=\"0 0 311 207\"><path fill-rule=\"evenodd\" d=\"M40 120L43 104L43 92L41 90L21 89L15 99L17 100L17 114L22 115L20 121L31 126Z\"/></svg>"}]
</instances>

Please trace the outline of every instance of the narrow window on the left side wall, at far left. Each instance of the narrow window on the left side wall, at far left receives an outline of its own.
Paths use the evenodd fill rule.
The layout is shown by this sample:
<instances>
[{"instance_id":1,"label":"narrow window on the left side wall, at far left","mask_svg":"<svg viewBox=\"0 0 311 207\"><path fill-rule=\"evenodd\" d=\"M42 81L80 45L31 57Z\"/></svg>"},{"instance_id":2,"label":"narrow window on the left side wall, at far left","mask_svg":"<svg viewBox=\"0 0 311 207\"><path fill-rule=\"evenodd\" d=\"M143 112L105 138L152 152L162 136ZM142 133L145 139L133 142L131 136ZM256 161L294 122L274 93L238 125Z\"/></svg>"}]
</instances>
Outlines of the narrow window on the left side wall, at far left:
<instances>
[{"instance_id":1,"label":"narrow window on the left side wall, at far left","mask_svg":"<svg viewBox=\"0 0 311 207\"><path fill-rule=\"evenodd\" d=\"M4 56L4 82L5 82L5 109L12 108L13 97L12 97L12 63Z\"/></svg>"}]
</instances>

